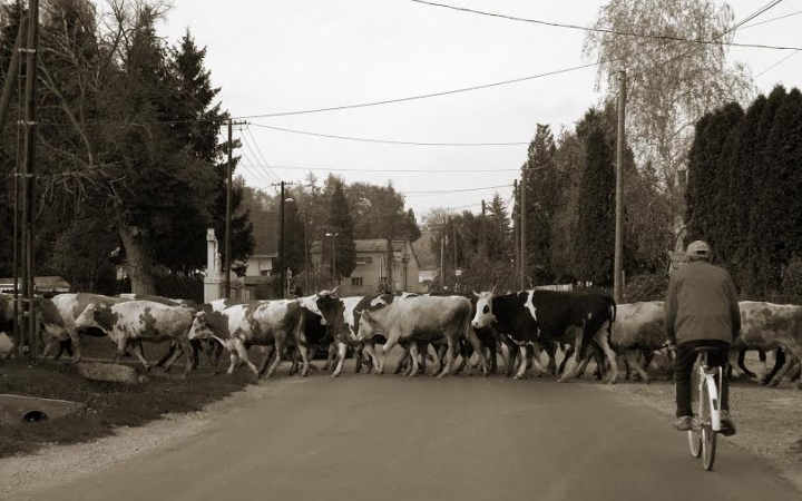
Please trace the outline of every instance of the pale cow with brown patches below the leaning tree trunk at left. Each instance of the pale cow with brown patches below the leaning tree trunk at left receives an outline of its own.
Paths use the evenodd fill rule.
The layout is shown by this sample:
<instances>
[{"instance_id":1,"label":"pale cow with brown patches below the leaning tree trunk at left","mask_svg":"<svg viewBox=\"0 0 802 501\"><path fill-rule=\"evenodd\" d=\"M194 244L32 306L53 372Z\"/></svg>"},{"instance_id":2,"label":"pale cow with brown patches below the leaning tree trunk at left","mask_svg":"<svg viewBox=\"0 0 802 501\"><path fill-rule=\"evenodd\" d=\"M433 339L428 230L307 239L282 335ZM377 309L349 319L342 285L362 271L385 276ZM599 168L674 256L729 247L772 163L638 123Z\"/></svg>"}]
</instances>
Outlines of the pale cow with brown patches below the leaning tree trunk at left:
<instances>
[{"instance_id":1,"label":"pale cow with brown patches below the leaning tree trunk at left","mask_svg":"<svg viewBox=\"0 0 802 501\"><path fill-rule=\"evenodd\" d=\"M187 334L193 322L193 313L183 306L167 306L151 301L127 301L104 305L89 304L75 320L75 328L99 328L117 345L118 363L131 341L160 343L169 341L177 345L176 353L165 365L169 371L173 363L186 351L190 351ZM145 360L141 344L135 344L135 353L146 371L150 364ZM192 356L187 356L185 374L193 369Z\"/></svg>"}]
</instances>

